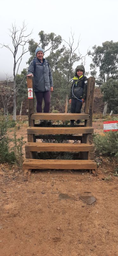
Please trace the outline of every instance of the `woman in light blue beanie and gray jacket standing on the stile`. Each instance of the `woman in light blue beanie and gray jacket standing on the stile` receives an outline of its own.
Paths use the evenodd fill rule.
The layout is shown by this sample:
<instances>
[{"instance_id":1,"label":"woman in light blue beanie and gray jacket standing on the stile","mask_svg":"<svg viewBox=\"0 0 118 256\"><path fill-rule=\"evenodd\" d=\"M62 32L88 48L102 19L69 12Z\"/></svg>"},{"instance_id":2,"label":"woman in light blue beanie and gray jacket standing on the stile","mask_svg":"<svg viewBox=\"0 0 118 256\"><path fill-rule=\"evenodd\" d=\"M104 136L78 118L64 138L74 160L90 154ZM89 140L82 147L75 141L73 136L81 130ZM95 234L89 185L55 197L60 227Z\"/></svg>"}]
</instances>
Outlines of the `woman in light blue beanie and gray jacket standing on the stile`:
<instances>
[{"instance_id":1,"label":"woman in light blue beanie and gray jacket standing on the stile","mask_svg":"<svg viewBox=\"0 0 118 256\"><path fill-rule=\"evenodd\" d=\"M44 113L49 113L50 91L53 91L53 78L48 61L44 58L41 47L36 48L36 57L30 62L28 75L34 77L33 88L36 95L36 111L42 113L42 101L44 99Z\"/></svg>"}]
</instances>

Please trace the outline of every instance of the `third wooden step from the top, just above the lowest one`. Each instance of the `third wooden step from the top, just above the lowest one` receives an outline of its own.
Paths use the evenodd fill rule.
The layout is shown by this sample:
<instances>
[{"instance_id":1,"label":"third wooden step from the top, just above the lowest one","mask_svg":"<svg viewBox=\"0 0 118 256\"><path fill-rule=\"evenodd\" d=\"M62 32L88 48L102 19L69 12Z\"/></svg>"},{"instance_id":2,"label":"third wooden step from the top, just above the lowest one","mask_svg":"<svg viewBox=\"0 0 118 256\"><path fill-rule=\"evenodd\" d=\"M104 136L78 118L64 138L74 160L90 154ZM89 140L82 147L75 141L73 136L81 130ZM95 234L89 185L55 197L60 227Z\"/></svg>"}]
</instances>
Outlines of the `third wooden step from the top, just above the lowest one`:
<instances>
[{"instance_id":1,"label":"third wooden step from the top, just above the lowest one","mask_svg":"<svg viewBox=\"0 0 118 256\"><path fill-rule=\"evenodd\" d=\"M89 152L94 151L93 144L85 143L43 143L28 142L25 144L25 151L30 152Z\"/></svg>"}]
</instances>

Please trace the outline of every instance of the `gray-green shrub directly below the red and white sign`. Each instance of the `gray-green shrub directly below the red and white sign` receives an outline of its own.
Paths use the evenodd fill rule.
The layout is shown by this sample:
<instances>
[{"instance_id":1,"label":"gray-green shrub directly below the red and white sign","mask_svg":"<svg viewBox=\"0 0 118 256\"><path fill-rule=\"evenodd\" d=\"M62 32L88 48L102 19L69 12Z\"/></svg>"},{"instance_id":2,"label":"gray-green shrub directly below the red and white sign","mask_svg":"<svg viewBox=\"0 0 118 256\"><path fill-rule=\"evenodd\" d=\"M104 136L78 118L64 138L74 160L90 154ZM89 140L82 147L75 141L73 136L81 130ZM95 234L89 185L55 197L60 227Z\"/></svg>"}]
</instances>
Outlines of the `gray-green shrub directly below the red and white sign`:
<instances>
[{"instance_id":1,"label":"gray-green shrub directly below the red and white sign","mask_svg":"<svg viewBox=\"0 0 118 256\"><path fill-rule=\"evenodd\" d=\"M94 134L95 156L115 157L118 160L118 131Z\"/></svg>"}]
</instances>

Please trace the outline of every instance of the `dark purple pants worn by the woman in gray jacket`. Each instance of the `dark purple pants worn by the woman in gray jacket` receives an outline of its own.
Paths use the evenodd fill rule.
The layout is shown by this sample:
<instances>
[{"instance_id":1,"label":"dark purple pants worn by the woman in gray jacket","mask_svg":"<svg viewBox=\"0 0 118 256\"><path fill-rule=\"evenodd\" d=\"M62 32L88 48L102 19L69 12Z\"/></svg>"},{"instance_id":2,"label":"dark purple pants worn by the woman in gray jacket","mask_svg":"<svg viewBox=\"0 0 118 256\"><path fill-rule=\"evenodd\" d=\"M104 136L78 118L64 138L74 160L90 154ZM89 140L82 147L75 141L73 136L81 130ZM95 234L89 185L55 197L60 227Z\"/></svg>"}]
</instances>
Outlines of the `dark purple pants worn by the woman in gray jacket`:
<instances>
[{"instance_id":1,"label":"dark purple pants worn by the woman in gray jacket","mask_svg":"<svg viewBox=\"0 0 118 256\"><path fill-rule=\"evenodd\" d=\"M36 95L36 101L37 101L37 105L36 105L36 111L38 113L42 113L42 101L44 99L44 113L49 113L49 109L50 109L50 98L51 98L51 93L50 91L42 91L42 92L35 92Z\"/></svg>"}]
</instances>

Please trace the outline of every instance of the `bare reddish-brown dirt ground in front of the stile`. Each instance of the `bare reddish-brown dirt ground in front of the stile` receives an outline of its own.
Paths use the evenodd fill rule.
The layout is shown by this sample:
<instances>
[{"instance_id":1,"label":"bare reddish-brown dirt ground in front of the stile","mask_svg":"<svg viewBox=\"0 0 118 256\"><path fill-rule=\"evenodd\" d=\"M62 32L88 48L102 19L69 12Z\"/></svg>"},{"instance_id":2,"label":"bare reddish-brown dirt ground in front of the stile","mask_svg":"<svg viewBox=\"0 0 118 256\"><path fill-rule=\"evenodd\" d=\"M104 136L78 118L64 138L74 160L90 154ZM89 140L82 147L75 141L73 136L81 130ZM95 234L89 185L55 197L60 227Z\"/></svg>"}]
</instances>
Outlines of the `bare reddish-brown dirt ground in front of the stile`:
<instances>
[{"instance_id":1,"label":"bare reddish-brown dirt ground in front of the stile","mask_svg":"<svg viewBox=\"0 0 118 256\"><path fill-rule=\"evenodd\" d=\"M103 132L103 122L93 126ZM17 137L27 140L26 128L21 125ZM96 177L46 170L25 178L16 166L1 164L0 255L117 256L118 178L113 170L114 163L103 158ZM60 193L70 198L60 199ZM88 205L80 195L93 195L96 202Z\"/></svg>"}]
</instances>

